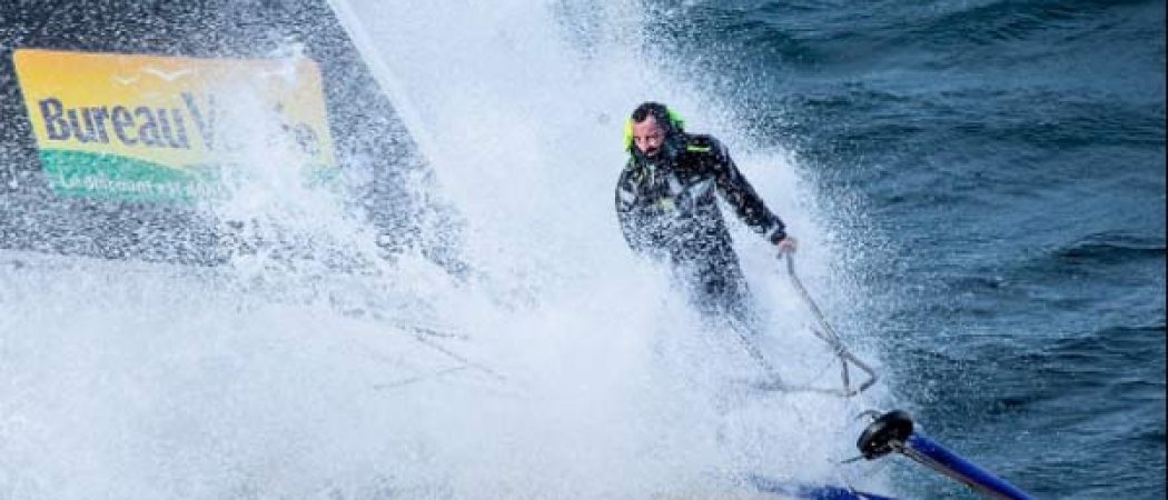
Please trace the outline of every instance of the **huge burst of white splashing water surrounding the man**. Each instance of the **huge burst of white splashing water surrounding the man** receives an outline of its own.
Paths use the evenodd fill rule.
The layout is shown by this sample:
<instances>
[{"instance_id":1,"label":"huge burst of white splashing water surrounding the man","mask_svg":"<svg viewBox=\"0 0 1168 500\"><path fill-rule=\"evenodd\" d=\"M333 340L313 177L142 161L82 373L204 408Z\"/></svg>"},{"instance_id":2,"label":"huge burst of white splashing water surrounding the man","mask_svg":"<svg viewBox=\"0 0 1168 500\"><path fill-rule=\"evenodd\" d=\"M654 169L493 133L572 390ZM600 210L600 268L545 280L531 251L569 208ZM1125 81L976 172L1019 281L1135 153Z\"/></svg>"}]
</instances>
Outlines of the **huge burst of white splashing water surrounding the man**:
<instances>
[{"instance_id":1,"label":"huge burst of white splashing water surrounding the man","mask_svg":"<svg viewBox=\"0 0 1168 500\"><path fill-rule=\"evenodd\" d=\"M288 182L297 160L278 141L251 141L266 146L206 210L281 245L220 268L8 259L0 498L654 498L743 493L749 473L881 480L833 465L855 402L750 390L759 372L736 340L625 247L621 120L648 99L723 138L804 246L828 245L787 159L750 150L729 111L649 62L638 9L333 7L434 171L416 189L458 213L457 233L430 237L460 241L465 272L416 249L383 259L343 190ZM788 379L834 381L771 249L736 241L763 347Z\"/></svg>"}]
</instances>

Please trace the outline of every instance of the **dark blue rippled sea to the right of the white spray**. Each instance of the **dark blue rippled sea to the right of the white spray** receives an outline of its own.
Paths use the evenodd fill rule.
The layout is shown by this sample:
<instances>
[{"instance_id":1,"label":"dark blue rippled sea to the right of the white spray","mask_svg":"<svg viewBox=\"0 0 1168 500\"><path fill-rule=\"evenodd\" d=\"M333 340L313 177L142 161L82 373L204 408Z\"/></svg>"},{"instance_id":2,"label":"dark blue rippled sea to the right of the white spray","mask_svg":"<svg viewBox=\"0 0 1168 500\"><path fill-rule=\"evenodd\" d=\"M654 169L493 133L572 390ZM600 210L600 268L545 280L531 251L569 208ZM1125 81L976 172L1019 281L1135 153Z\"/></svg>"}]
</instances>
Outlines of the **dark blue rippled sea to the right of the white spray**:
<instances>
[{"instance_id":1,"label":"dark blue rippled sea to the right of the white spray","mask_svg":"<svg viewBox=\"0 0 1168 500\"><path fill-rule=\"evenodd\" d=\"M1163 1L656 14L676 73L836 202L850 326L931 435L1041 498L1163 498Z\"/></svg>"}]
</instances>

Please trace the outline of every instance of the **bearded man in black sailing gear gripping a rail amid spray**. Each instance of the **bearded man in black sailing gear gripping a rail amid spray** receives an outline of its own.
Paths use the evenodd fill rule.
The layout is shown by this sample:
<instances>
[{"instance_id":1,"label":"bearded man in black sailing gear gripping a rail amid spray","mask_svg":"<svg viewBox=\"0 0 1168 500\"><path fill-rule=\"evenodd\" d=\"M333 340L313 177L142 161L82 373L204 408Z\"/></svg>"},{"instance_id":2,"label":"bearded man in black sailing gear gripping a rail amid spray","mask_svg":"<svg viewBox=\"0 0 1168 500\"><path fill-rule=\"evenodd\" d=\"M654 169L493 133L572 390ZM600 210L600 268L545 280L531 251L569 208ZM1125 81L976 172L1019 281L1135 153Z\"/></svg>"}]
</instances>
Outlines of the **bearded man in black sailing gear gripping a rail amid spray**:
<instances>
[{"instance_id":1,"label":"bearded man in black sailing gear gripping a rail amid spray","mask_svg":"<svg viewBox=\"0 0 1168 500\"><path fill-rule=\"evenodd\" d=\"M634 251L673 265L693 287L698 310L749 323L745 277L716 195L780 252L793 252L795 241L726 148L709 135L687 134L683 126L658 103L633 111L625 126L630 159L617 183L620 228Z\"/></svg>"}]
</instances>

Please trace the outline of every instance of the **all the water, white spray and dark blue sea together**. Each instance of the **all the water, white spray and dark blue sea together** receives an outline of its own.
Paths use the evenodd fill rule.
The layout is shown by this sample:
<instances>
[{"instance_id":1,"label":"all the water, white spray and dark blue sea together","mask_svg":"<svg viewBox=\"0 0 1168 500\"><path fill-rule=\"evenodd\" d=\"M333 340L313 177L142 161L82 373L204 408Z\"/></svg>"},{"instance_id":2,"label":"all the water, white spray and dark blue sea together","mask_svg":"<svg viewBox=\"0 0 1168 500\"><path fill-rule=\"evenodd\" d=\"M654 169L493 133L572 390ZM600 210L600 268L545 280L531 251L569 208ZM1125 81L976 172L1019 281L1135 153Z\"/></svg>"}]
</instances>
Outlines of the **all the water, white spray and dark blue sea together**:
<instances>
[{"instance_id":1,"label":"all the water, white spray and dark blue sea together","mask_svg":"<svg viewBox=\"0 0 1168 500\"><path fill-rule=\"evenodd\" d=\"M382 261L269 150L206 210L291 226L297 258L6 259L0 498L704 498L744 473L974 498L841 465L871 408L1040 498L1163 497L1163 2L332 6L464 272ZM800 238L871 394L744 389L749 357L628 254L612 188L648 99ZM764 351L833 383L770 248L736 240Z\"/></svg>"}]
</instances>

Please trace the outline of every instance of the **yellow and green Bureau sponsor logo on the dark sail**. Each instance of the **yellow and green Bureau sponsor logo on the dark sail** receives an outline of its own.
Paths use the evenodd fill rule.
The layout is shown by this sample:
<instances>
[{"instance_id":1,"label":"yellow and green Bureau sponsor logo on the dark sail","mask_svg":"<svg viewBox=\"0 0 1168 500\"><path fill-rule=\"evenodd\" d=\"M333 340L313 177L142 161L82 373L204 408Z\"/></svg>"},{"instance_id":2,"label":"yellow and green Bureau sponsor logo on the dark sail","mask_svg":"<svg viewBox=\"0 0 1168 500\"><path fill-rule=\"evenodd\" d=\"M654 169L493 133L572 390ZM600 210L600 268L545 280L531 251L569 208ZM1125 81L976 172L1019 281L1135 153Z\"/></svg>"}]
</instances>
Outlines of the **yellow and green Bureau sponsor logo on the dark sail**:
<instances>
[{"instance_id":1,"label":"yellow and green Bureau sponsor logo on the dark sail","mask_svg":"<svg viewBox=\"0 0 1168 500\"><path fill-rule=\"evenodd\" d=\"M320 70L308 58L37 49L13 58L44 174L61 196L201 198L257 147L292 149L290 175L335 168Z\"/></svg>"}]
</instances>

